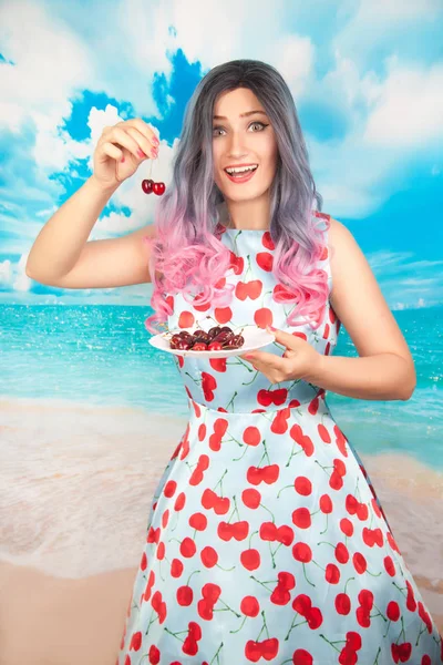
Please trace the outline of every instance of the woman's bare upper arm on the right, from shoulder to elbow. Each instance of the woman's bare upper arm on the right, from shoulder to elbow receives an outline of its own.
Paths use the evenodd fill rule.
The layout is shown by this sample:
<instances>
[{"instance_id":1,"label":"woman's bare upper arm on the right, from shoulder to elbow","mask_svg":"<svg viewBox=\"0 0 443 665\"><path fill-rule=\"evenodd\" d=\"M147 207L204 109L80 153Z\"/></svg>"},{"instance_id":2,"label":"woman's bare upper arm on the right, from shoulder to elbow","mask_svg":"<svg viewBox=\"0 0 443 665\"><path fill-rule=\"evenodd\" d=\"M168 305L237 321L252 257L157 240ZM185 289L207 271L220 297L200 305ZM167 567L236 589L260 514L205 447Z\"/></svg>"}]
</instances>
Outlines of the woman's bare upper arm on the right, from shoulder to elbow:
<instances>
[{"instance_id":1,"label":"woman's bare upper arm on the right, from shoulder to elbow","mask_svg":"<svg viewBox=\"0 0 443 665\"><path fill-rule=\"evenodd\" d=\"M330 217L328 235L332 277L329 299L359 356L392 352L413 365L402 331L353 234Z\"/></svg>"}]
</instances>

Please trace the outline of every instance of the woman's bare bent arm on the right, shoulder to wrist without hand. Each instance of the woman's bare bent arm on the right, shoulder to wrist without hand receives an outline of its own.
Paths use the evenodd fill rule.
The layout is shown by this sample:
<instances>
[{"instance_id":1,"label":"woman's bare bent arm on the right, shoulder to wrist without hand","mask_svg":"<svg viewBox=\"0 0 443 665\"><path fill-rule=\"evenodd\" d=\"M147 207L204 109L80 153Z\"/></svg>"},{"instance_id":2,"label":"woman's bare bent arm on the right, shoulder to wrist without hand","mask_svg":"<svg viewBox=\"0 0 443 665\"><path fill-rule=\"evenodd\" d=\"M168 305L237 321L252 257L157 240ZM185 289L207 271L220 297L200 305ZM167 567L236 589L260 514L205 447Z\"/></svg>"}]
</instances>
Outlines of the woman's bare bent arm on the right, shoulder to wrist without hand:
<instances>
[{"instance_id":1,"label":"woman's bare bent arm on the right, shoulder to wrist without hand","mask_svg":"<svg viewBox=\"0 0 443 665\"><path fill-rule=\"evenodd\" d=\"M306 380L339 395L369 400L408 400L416 375L409 346L351 232L331 218L330 301L359 354L322 356Z\"/></svg>"}]
</instances>

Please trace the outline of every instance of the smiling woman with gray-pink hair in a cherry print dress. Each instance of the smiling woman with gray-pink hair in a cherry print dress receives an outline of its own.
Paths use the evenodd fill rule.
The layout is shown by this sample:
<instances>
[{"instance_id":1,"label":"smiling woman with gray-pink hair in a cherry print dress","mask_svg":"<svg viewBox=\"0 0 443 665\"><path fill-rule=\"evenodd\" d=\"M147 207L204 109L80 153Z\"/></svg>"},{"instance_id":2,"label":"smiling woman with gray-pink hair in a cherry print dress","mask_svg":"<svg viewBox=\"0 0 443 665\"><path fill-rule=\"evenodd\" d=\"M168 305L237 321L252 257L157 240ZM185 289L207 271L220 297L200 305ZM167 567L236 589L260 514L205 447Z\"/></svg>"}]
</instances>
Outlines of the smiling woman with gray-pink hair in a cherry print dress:
<instances>
[{"instance_id":1,"label":"smiling woman with gray-pink hair in a cherry print dress","mask_svg":"<svg viewBox=\"0 0 443 665\"><path fill-rule=\"evenodd\" d=\"M174 356L189 420L151 507L119 665L441 663L441 636L326 402L327 390L406 400L413 361L352 235L320 212L287 84L259 61L214 68L187 106L154 226L86 243L155 139L141 120L105 129L93 177L42 229L28 274L71 288L152 280L150 331L210 316L271 326L275 341ZM341 324L358 358L331 357Z\"/></svg>"}]
</instances>

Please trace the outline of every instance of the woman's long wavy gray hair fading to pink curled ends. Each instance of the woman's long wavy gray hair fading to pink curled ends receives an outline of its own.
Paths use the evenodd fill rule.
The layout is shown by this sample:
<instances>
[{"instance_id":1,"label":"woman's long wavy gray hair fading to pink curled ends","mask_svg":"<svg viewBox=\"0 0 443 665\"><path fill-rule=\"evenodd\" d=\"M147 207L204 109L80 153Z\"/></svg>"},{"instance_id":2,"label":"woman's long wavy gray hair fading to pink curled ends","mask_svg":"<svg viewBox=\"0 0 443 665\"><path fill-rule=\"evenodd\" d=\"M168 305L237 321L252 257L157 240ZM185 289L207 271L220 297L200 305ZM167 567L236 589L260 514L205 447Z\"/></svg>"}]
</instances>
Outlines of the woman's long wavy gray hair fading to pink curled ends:
<instances>
[{"instance_id":1,"label":"woman's long wavy gray hair fading to pink curled ends","mask_svg":"<svg viewBox=\"0 0 443 665\"><path fill-rule=\"evenodd\" d=\"M155 314L145 320L151 332L163 331L153 324L165 324L172 315L168 295L181 291L188 303L198 296L203 307L227 307L231 301L234 286L218 284L229 267L230 254L215 233L224 196L214 181L213 113L218 95L237 88L247 88L258 98L277 140L269 233L275 245L272 273L282 289L277 289L275 299L297 304L288 314L288 326L306 324L297 321L299 316L309 319L315 329L322 320L327 273L315 265L327 252L319 227L330 223L327 215L313 214L313 208L321 211L322 197L313 183L293 99L274 66L257 60L233 60L212 69L186 106L173 182L155 211L156 238L144 238L151 246Z\"/></svg>"}]
</instances>

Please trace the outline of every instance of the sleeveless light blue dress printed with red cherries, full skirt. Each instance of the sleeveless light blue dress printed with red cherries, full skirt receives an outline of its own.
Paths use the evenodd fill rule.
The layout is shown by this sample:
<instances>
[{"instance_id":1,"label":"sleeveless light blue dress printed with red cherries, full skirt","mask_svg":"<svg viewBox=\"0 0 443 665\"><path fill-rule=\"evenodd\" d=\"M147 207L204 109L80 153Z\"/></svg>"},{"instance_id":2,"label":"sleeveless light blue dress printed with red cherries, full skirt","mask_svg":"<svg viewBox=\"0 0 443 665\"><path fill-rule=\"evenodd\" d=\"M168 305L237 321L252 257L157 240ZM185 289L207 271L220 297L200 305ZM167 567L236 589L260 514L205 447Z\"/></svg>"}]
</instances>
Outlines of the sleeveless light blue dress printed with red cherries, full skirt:
<instances>
[{"instance_id":1,"label":"sleeveless light blue dress printed with red cherries, full skirt","mask_svg":"<svg viewBox=\"0 0 443 665\"><path fill-rule=\"evenodd\" d=\"M340 321L329 301L312 330L288 327L272 298L269 232L217 234L231 252L233 303L213 310L168 296L169 329L209 314L297 332L330 355ZM327 252L319 267L330 291ZM174 359L189 419L155 491L117 665L442 663L441 635L326 391L270 385L238 357Z\"/></svg>"}]
</instances>

